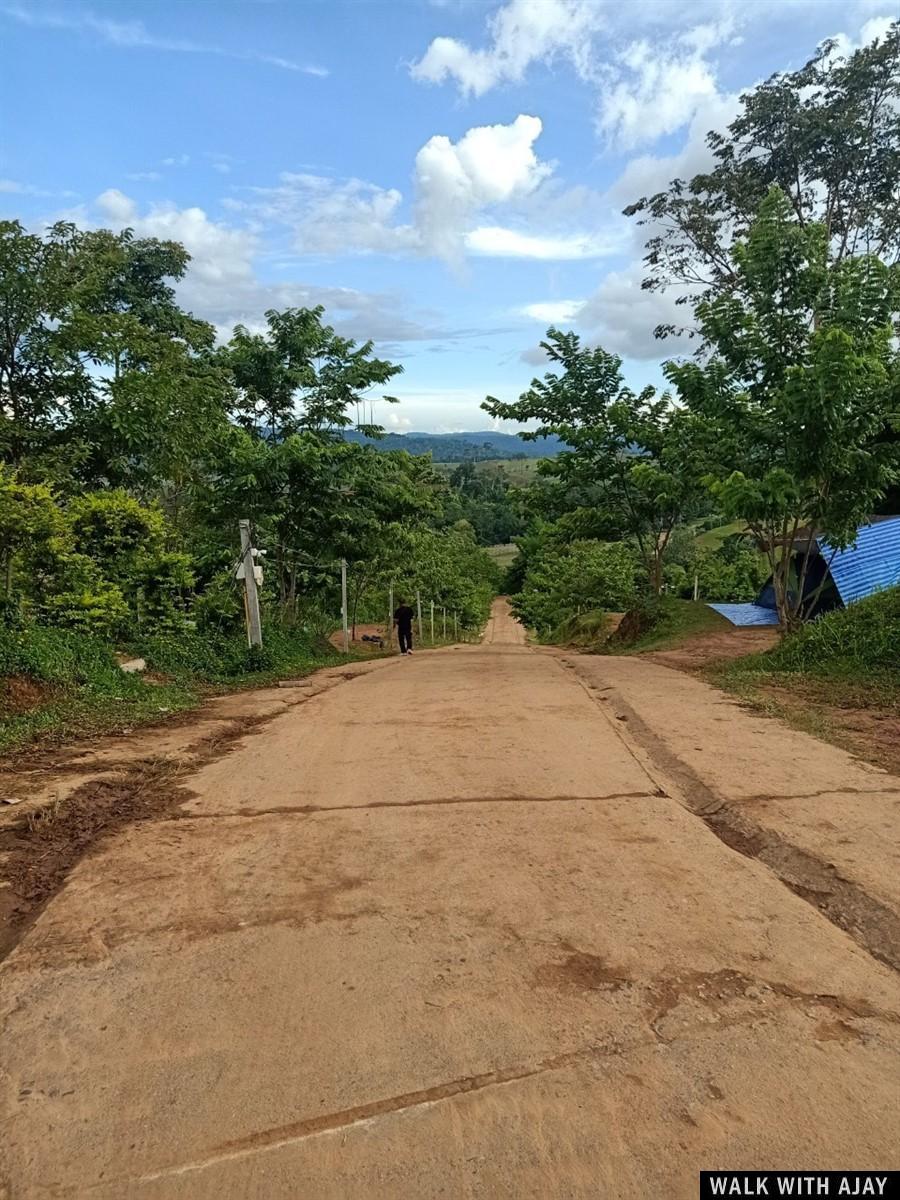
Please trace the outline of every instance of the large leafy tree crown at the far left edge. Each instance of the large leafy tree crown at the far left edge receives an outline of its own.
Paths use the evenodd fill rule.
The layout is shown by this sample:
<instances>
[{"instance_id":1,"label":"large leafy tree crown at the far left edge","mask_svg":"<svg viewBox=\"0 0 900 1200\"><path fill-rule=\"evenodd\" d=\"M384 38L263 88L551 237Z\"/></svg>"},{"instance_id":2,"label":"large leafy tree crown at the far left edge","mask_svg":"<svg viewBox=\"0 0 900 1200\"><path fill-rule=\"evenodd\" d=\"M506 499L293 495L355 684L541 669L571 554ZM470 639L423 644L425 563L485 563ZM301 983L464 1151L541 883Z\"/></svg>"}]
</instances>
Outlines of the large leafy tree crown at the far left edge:
<instances>
[{"instance_id":1,"label":"large leafy tree crown at the far left edge","mask_svg":"<svg viewBox=\"0 0 900 1200\"><path fill-rule=\"evenodd\" d=\"M184 246L0 223L0 452L28 478L184 487L224 421L215 330L172 287Z\"/></svg>"}]
</instances>

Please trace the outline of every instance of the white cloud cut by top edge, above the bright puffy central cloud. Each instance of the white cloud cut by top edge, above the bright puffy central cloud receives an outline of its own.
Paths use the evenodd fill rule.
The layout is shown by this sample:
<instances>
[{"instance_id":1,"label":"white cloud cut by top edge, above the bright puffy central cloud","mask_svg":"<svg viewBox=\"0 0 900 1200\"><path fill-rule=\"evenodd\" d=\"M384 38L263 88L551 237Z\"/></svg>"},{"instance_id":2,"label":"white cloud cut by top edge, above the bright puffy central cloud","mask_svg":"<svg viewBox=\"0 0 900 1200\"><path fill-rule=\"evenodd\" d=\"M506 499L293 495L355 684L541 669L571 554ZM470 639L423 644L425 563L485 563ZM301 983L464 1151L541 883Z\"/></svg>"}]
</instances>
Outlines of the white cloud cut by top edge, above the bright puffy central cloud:
<instances>
[{"instance_id":1,"label":"white cloud cut by top edge, above the bright puffy central cloud","mask_svg":"<svg viewBox=\"0 0 900 1200\"><path fill-rule=\"evenodd\" d=\"M539 60L565 53L582 73L589 70L589 37L602 22L590 0L510 0L487 22L490 44L473 50L454 37L436 37L419 62L414 79L454 79L464 96L482 96L500 83L518 83Z\"/></svg>"}]
</instances>

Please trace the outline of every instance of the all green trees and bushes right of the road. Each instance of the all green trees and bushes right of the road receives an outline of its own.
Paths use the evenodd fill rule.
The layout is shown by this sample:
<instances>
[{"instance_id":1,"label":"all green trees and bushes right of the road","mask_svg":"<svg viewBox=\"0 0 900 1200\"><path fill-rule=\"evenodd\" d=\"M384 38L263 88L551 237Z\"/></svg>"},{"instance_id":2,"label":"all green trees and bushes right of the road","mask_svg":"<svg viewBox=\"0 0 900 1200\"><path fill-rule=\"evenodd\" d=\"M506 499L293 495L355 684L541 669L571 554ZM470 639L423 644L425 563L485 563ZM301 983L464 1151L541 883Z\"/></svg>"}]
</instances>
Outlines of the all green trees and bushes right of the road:
<instances>
[{"instance_id":1,"label":"all green trees and bushes right of the road","mask_svg":"<svg viewBox=\"0 0 900 1200\"><path fill-rule=\"evenodd\" d=\"M900 26L846 56L820 47L744 94L709 134L709 172L630 205L643 286L678 289L661 349L694 344L664 362L668 390L632 388L616 354L550 329L547 373L485 401L566 448L523 497L506 575L540 638L575 623L602 640L602 614L625 611L611 648L661 644L720 624L694 600L752 601L770 581L784 654L812 644L803 547L845 548L900 511L898 97Z\"/></svg>"}]
</instances>

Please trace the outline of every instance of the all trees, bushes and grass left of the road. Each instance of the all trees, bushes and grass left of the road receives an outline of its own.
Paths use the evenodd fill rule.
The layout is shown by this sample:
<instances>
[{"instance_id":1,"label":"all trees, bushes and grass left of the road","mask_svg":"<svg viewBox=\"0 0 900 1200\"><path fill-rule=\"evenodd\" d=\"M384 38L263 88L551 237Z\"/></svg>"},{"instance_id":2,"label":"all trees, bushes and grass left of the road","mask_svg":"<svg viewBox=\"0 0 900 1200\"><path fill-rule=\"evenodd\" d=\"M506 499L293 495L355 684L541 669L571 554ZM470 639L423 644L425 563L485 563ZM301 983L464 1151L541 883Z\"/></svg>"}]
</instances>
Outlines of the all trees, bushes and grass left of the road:
<instances>
[{"instance_id":1,"label":"all trees, bushes and grass left of the road","mask_svg":"<svg viewBox=\"0 0 900 1200\"><path fill-rule=\"evenodd\" d=\"M402 368L322 308L217 346L176 301L187 265L127 230L0 223L0 749L336 661L342 559L354 624L385 622L391 587L463 636L486 618L505 486L382 451L356 418ZM241 518L265 554L253 650Z\"/></svg>"}]
</instances>

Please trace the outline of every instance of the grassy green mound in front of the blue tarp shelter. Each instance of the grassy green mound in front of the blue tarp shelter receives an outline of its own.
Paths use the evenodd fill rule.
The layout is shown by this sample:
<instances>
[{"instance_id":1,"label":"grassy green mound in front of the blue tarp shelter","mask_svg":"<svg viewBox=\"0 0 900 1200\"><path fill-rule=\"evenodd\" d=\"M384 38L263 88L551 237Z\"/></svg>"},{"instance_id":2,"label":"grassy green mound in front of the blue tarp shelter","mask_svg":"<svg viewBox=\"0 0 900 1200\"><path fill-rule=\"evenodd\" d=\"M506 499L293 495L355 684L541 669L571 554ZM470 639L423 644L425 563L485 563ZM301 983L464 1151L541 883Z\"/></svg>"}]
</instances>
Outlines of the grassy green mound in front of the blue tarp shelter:
<instances>
[{"instance_id":1,"label":"grassy green mound in front of the blue tarp shelter","mask_svg":"<svg viewBox=\"0 0 900 1200\"><path fill-rule=\"evenodd\" d=\"M760 660L772 670L900 672L900 587L824 613Z\"/></svg>"}]
</instances>

